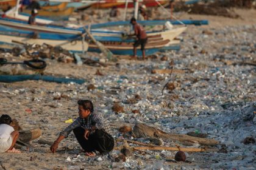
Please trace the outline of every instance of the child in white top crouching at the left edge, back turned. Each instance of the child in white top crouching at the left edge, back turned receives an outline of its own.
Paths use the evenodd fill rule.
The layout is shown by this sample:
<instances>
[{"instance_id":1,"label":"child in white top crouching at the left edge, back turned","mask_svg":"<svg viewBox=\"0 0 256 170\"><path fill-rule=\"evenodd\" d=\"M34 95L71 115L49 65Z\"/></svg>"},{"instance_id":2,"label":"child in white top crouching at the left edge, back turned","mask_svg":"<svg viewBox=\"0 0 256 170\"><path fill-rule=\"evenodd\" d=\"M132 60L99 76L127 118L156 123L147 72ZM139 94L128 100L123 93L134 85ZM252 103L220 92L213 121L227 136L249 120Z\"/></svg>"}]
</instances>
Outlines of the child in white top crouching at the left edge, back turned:
<instances>
[{"instance_id":1,"label":"child in white top crouching at the left edge, back turned","mask_svg":"<svg viewBox=\"0 0 256 170\"><path fill-rule=\"evenodd\" d=\"M14 148L19 138L19 132L10 126L11 123L12 118L9 115L0 117L0 152L20 153L21 151Z\"/></svg>"}]
</instances>

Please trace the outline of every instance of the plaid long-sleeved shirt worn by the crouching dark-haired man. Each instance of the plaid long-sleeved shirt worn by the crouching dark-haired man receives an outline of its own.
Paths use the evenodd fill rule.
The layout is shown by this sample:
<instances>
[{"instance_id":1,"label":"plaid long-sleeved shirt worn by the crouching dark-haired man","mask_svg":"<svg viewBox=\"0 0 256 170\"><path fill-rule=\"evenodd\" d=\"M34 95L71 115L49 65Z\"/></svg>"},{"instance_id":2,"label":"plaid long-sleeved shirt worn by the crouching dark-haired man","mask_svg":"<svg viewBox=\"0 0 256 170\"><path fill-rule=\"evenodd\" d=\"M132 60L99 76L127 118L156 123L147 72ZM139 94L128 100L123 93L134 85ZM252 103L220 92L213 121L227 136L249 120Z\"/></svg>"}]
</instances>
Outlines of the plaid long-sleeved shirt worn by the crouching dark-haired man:
<instances>
[{"instance_id":1,"label":"plaid long-sleeved shirt worn by the crouching dark-haired man","mask_svg":"<svg viewBox=\"0 0 256 170\"><path fill-rule=\"evenodd\" d=\"M85 118L78 117L72 124L69 124L64 131L60 132L60 135L63 135L64 137L68 137L71 131L75 129L76 127L82 127L84 129L91 129L92 126L95 126L96 129L102 129L108 134L112 135L112 130L110 129L110 126L108 124L108 121L105 120L105 118L99 114L98 112L91 112L91 114L88 117L88 120Z\"/></svg>"}]
</instances>

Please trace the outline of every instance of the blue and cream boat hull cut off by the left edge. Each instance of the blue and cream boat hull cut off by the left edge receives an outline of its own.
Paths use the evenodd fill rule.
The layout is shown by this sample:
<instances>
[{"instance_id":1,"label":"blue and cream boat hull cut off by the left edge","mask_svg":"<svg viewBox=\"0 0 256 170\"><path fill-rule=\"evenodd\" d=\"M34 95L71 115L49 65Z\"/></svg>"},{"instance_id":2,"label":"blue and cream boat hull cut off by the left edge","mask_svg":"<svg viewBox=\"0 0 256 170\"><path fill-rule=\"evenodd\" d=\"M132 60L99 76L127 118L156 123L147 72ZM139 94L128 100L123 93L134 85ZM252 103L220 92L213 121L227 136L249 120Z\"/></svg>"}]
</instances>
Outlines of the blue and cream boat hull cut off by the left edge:
<instances>
[{"instance_id":1,"label":"blue and cream boat hull cut off by the left edge","mask_svg":"<svg viewBox=\"0 0 256 170\"><path fill-rule=\"evenodd\" d=\"M82 41L82 32L77 30L49 28L38 25L21 24L9 21L0 22L0 39L11 43L13 40L29 44L49 44L61 46L66 50L88 49L88 43Z\"/></svg>"}]
</instances>

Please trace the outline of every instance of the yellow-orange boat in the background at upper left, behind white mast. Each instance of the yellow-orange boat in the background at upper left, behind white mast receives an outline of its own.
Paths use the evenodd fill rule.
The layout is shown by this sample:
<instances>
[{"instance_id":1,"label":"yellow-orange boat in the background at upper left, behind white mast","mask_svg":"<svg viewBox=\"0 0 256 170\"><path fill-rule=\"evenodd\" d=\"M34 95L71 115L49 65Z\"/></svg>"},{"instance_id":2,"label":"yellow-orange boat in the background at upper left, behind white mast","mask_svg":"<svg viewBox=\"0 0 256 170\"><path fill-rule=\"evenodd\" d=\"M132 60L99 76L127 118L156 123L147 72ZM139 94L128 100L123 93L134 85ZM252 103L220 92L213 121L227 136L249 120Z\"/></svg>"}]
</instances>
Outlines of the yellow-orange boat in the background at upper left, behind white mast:
<instances>
[{"instance_id":1,"label":"yellow-orange boat in the background at upper left, behind white mast","mask_svg":"<svg viewBox=\"0 0 256 170\"><path fill-rule=\"evenodd\" d=\"M69 16L73 13L74 8L68 8L64 10L57 10L57 11L48 11L48 10L38 10L37 18L49 18L52 20L68 20ZM24 9L21 13L23 15L30 15L31 10Z\"/></svg>"}]
</instances>

